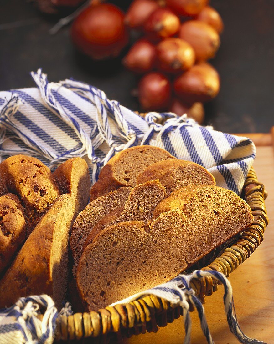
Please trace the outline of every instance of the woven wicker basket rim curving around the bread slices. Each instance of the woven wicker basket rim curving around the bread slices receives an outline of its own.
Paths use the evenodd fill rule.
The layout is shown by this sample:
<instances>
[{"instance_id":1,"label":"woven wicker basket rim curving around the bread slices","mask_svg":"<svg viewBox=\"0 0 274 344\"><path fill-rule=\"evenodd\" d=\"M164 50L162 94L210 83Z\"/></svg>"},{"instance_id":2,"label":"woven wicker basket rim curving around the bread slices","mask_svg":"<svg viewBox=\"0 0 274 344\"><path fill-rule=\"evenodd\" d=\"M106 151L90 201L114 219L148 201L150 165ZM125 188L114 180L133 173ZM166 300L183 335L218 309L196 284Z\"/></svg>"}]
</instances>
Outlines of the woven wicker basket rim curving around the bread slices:
<instances>
[{"instance_id":1,"label":"woven wicker basket rim curving around the bread slices","mask_svg":"<svg viewBox=\"0 0 274 344\"><path fill-rule=\"evenodd\" d=\"M262 243L264 230L268 225L264 203L266 196L264 185L258 182L252 168L244 184L243 197L252 209L254 222L240 238L226 246L219 256L202 270L216 270L229 276L246 258L250 257ZM205 296L217 290L217 285L211 277L192 280L191 287L202 302ZM190 304L190 310L193 310L192 307ZM171 307L171 304L164 299L148 295L136 301L106 307L97 312L61 316L58 319L55 340L71 341L89 338L89 343L104 343L110 338L115 338L115 341L119 342L123 336L130 337L146 331L157 332L159 327L166 326L180 315L182 315L182 310L179 306Z\"/></svg>"}]
</instances>

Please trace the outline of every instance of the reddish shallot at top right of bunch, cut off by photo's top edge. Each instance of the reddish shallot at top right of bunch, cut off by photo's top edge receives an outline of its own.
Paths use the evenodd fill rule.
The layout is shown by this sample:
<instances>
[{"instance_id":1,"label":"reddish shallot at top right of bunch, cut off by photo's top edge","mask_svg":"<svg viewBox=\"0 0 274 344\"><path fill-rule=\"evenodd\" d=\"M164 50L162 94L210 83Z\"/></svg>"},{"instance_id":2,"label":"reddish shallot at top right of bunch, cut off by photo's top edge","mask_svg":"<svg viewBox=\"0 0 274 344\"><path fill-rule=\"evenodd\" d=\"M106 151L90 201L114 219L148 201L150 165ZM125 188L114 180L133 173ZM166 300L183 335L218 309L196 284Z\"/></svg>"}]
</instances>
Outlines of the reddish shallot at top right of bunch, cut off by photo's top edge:
<instances>
[{"instance_id":1,"label":"reddish shallot at top right of bunch, cut off by photo's top edge","mask_svg":"<svg viewBox=\"0 0 274 344\"><path fill-rule=\"evenodd\" d=\"M206 3L207 0L166 0L167 6L175 13L190 17L194 17L200 13Z\"/></svg>"}]
</instances>

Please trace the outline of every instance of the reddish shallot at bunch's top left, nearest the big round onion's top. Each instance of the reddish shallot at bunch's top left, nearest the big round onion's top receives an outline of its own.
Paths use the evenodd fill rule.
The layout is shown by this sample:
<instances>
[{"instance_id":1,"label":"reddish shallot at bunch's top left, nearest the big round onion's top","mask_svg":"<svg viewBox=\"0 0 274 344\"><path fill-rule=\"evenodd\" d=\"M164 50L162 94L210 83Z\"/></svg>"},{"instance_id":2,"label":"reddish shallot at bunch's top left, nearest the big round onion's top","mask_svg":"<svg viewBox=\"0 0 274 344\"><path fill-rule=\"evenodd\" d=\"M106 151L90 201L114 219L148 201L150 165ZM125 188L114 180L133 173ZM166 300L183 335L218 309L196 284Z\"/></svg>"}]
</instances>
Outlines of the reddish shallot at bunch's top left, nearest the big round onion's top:
<instances>
[{"instance_id":1,"label":"reddish shallot at bunch's top left, nearest the big round onion's top","mask_svg":"<svg viewBox=\"0 0 274 344\"><path fill-rule=\"evenodd\" d=\"M124 23L130 28L141 29L157 8L159 5L154 0L134 0L126 12Z\"/></svg>"}]
</instances>

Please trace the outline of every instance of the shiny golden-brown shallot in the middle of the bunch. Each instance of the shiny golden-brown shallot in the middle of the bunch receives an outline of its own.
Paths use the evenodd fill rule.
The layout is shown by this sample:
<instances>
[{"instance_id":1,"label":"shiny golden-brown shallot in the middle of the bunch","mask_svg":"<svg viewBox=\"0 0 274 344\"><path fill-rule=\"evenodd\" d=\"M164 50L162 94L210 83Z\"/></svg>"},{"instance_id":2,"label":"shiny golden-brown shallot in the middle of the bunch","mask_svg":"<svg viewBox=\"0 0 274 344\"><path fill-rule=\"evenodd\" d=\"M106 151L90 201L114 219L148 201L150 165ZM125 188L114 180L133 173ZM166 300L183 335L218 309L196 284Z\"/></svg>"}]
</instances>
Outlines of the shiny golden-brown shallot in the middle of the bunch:
<instances>
[{"instance_id":1,"label":"shiny golden-brown shallot in the middle of the bunch","mask_svg":"<svg viewBox=\"0 0 274 344\"><path fill-rule=\"evenodd\" d=\"M159 68L176 73L189 69L195 62L192 46L180 38L166 38L157 45Z\"/></svg>"}]
</instances>

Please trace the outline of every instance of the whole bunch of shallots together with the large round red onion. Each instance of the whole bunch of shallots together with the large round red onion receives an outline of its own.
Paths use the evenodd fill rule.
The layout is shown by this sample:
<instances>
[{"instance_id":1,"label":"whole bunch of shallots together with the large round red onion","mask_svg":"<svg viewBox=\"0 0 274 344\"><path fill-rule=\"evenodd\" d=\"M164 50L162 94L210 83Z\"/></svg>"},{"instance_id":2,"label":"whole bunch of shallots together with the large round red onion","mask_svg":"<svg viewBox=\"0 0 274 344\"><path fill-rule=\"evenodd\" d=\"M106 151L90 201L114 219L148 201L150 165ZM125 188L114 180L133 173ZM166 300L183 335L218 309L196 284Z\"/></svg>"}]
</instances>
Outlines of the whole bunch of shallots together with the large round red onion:
<instances>
[{"instance_id":1,"label":"whole bunch of shallots together with the large round red onion","mask_svg":"<svg viewBox=\"0 0 274 344\"><path fill-rule=\"evenodd\" d=\"M123 64L140 75L138 98L144 111L187 113L204 119L203 104L220 89L206 61L220 46L223 22L207 0L133 0L124 13L110 3L91 4L72 24L72 40L94 59L115 57L139 30Z\"/></svg>"}]
</instances>

